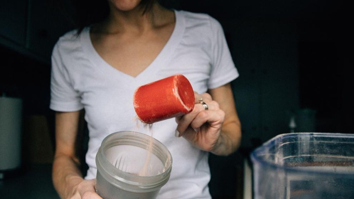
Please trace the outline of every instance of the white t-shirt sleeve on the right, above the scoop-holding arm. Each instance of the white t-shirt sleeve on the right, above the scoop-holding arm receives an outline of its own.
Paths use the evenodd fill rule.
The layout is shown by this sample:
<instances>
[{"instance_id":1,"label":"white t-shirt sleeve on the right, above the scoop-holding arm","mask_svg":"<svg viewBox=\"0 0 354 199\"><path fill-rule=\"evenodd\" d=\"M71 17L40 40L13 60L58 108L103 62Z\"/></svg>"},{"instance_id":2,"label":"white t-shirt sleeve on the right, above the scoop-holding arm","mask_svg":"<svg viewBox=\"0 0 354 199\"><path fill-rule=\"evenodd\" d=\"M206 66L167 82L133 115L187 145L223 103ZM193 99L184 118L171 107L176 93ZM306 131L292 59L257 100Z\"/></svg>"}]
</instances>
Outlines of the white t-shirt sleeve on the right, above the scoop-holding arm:
<instances>
[{"instance_id":1,"label":"white t-shirt sleeve on the right, above the scoop-holding arm","mask_svg":"<svg viewBox=\"0 0 354 199\"><path fill-rule=\"evenodd\" d=\"M232 60L221 24L210 18L212 32L212 69L208 88L215 89L236 79L239 73Z\"/></svg>"}]
</instances>

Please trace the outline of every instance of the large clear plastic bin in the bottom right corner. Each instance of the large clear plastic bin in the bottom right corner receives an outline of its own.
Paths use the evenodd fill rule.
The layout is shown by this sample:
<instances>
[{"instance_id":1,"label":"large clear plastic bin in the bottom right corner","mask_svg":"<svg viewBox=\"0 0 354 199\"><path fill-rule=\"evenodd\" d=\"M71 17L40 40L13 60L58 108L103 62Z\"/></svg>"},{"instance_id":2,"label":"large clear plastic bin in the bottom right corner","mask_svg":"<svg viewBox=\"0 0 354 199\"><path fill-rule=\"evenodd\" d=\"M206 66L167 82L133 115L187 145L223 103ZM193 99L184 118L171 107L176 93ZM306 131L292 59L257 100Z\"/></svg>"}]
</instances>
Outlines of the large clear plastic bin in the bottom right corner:
<instances>
[{"instance_id":1,"label":"large clear plastic bin in the bottom right corner","mask_svg":"<svg viewBox=\"0 0 354 199\"><path fill-rule=\"evenodd\" d=\"M278 135L251 160L255 199L354 198L354 134Z\"/></svg>"}]
</instances>

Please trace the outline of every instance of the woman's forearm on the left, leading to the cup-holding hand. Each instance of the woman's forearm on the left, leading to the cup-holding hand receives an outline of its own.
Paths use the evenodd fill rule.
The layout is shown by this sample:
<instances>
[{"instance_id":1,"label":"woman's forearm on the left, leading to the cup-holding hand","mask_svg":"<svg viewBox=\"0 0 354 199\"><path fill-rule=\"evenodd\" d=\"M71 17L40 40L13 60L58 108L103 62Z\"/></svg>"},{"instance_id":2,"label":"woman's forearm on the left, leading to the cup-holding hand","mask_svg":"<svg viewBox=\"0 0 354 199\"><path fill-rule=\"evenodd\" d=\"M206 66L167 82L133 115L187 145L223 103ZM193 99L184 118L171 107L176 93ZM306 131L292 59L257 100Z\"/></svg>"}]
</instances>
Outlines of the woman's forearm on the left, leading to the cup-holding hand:
<instances>
[{"instance_id":1,"label":"woman's forearm on the left, leading to the cup-holding hand","mask_svg":"<svg viewBox=\"0 0 354 199\"><path fill-rule=\"evenodd\" d=\"M67 155L56 155L53 162L53 184L61 198L73 195L75 188L83 181L78 161Z\"/></svg>"}]
</instances>

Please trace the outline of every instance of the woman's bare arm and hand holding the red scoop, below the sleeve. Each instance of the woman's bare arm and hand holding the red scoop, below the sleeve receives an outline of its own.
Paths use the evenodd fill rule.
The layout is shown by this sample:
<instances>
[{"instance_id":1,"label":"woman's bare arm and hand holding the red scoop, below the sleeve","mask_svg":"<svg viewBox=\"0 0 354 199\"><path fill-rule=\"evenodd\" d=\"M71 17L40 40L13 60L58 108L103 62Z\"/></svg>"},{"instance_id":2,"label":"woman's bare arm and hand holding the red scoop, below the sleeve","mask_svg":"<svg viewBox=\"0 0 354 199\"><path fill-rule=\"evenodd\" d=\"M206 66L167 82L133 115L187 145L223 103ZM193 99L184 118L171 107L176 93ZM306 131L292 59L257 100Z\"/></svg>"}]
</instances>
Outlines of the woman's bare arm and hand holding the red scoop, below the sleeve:
<instances>
[{"instance_id":1,"label":"woman's bare arm and hand holding the red scoop, below the sleeve","mask_svg":"<svg viewBox=\"0 0 354 199\"><path fill-rule=\"evenodd\" d=\"M229 155L239 147L241 141L241 124L231 86L226 84L209 90L209 93L195 93L193 111L176 118L176 136L183 136L202 150L216 155ZM208 110L199 103L200 98L208 105Z\"/></svg>"}]
</instances>

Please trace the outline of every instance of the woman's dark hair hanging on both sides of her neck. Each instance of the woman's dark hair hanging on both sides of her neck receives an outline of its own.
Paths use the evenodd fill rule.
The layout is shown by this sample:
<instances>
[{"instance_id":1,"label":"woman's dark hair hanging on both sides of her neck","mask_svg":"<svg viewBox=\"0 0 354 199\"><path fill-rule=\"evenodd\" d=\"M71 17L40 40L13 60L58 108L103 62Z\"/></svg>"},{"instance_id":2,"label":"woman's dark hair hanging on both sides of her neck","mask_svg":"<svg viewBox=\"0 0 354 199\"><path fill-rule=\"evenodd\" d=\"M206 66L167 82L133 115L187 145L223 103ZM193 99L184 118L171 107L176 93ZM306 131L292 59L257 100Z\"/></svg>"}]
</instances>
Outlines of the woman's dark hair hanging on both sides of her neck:
<instances>
[{"instance_id":1,"label":"woman's dark hair hanging on both sides of her neck","mask_svg":"<svg viewBox=\"0 0 354 199\"><path fill-rule=\"evenodd\" d=\"M155 0L141 0L140 5L144 9L142 15L152 8ZM78 28L78 35L88 25L97 23L109 14L108 0L75 0L73 22Z\"/></svg>"}]
</instances>

